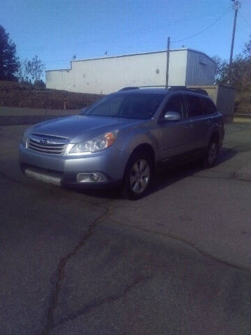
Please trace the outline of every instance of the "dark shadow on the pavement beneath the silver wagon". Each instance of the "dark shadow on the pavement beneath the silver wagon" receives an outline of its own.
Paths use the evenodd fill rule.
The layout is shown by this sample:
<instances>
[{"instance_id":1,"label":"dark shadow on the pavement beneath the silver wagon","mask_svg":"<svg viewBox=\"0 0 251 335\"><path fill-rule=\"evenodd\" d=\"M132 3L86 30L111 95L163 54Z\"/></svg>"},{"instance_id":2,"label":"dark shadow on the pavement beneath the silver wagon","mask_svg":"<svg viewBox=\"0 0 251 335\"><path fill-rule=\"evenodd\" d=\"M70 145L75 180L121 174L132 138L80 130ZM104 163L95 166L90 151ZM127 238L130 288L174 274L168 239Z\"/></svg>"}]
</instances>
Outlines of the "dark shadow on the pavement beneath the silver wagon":
<instances>
[{"instance_id":1,"label":"dark shadow on the pavement beneath the silver wagon","mask_svg":"<svg viewBox=\"0 0 251 335\"><path fill-rule=\"evenodd\" d=\"M238 154L238 150L228 149L223 147L220 150L220 154L215 163L215 167L228 161L232 157ZM156 173L155 178L153 180L153 184L151 188L149 188L147 195L151 195L155 192L160 191L163 188L166 188L169 185L172 185L181 179L185 179L186 177L190 177L197 172L205 170L203 168L203 163L201 161L193 161L191 163L186 163L184 165L178 165L175 167L166 167ZM208 169L210 170L210 169ZM120 188L104 188L99 190L87 190L84 188L76 188L76 187L68 187L70 189L74 189L77 193L82 193L85 195L89 195L95 198L105 198L107 200L118 200L121 199L121 189ZM135 201L135 200L134 200ZM137 200L136 200L137 201Z\"/></svg>"}]
</instances>

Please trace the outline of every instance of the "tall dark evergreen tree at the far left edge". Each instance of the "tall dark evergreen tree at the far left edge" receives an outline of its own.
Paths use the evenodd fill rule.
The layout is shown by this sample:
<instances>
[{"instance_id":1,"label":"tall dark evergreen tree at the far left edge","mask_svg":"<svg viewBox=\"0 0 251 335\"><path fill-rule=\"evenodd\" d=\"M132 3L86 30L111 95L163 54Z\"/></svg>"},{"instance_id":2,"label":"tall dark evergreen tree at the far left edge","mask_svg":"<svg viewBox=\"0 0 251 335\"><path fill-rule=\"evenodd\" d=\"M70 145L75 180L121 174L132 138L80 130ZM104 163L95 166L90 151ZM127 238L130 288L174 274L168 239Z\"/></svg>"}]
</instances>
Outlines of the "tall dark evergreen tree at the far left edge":
<instances>
[{"instance_id":1,"label":"tall dark evergreen tree at the far left edge","mask_svg":"<svg viewBox=\"0 0 251 335\"><path fill-rule=\"evenodd\" d=\"M0 80L16 80L15 74L19 67L16 46L9 34L0 25Z\"/></svg>"}]
</instances>

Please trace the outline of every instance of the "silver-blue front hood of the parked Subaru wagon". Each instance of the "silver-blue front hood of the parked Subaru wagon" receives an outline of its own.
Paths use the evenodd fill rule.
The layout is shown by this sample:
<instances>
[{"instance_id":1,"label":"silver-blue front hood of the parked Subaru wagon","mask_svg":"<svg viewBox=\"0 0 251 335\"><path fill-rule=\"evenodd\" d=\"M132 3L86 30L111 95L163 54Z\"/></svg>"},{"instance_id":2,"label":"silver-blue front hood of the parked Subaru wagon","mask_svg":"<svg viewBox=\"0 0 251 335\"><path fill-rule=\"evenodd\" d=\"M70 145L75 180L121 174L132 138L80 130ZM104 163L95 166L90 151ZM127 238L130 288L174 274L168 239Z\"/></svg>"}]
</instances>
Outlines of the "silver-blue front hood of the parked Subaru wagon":
<instances>
[{"instance_id":1,"label":"silver-blue front hood of the parked Subaru wagon","mask_svg":"<svg viewBox=\"0 0 251 335\"><path fill-rule=\"evenodd\" d=\"M119 130L133 124L140 124L144 121L146 120L75 115L73 117L63 117L42 122L31 128L30 133L64 137L71 143L78 143L102 133Z\"/></svg>"}]
</instances>

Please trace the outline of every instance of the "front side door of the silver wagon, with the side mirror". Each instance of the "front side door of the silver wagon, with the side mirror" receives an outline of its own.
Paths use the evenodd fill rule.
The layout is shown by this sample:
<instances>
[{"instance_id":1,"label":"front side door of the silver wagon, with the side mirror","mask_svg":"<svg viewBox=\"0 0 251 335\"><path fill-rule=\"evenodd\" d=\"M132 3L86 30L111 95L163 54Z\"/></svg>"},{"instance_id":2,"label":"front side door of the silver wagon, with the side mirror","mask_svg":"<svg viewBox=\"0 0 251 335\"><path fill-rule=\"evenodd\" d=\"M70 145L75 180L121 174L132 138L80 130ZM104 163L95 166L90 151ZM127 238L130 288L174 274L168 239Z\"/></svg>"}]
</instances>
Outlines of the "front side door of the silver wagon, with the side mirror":
<instances>
[{"instance_id":1,"label":"front side door of the silver wagon, with the side mirror","mask_svg":"<svg viewBox=\"0 0 251 335\"><path fill-rule=\"evenodd\" d=\"M178 112L180 121L163 121L166 112ZM191 149L192 121L187 118L183 94L173 94L168 99L159 118L160 125L160 160L175 161L183 158Z\"/></svg>"}]
</instances>

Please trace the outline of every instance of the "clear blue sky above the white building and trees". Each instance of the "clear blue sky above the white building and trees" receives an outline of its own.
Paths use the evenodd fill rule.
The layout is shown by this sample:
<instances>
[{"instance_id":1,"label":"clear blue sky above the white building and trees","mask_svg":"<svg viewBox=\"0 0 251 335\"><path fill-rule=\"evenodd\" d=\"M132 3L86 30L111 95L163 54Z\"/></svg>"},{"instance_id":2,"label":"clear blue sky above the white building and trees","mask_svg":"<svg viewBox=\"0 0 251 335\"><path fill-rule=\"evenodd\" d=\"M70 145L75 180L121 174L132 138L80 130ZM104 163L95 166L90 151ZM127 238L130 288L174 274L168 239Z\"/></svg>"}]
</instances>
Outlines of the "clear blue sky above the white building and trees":
<instances>
[{"instance_id":1,"label":"clear blue sky above the white building and trees","mask_svg":"<svg viewBox=\"0 0 251 335\"><path fill-rule=\"evenodd\" d=\"M1 0L0 24L16 43L21 59L37 54L47 70L69 68L74 54L86 59L103 57L106 51L116 56L165 50L167 36L171 49L184 45L228 60L231 4L231 0ZM234 54L241 52L250 35L251 0L242 0Z\"/></svg>"}]
</instances>

